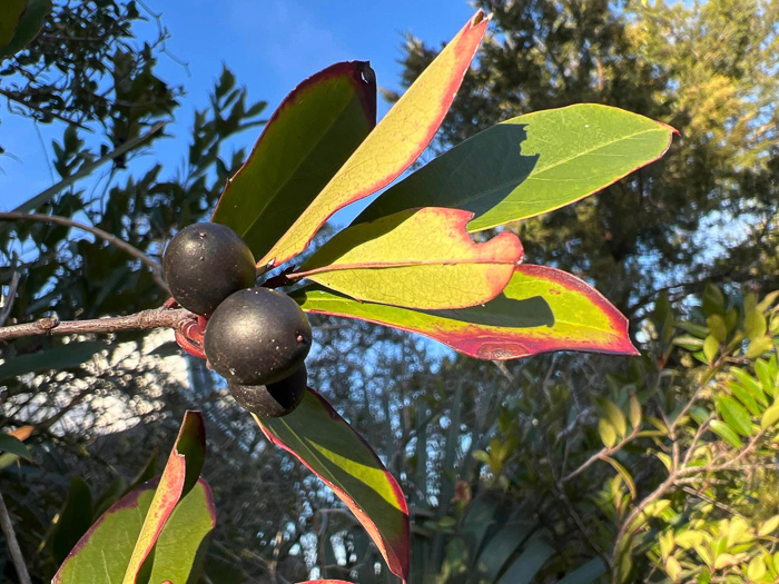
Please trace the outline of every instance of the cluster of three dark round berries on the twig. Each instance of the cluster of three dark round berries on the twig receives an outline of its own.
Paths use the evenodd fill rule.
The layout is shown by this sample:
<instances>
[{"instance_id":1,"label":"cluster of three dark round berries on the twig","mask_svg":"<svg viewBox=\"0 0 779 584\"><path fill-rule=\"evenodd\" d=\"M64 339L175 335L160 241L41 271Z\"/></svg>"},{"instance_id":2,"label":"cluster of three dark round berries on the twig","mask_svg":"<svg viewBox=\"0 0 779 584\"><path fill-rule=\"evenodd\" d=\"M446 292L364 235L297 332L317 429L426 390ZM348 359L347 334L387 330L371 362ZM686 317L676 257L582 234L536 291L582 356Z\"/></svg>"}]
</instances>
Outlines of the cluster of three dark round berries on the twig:
<instances>
[{"instance_id":1,"label":"cluster of three dark round berries on the twig","mask_svg":"<svg viewBox=\"0 0 779 584\"><path fill-rule=\"evenodd\" d=\"M254 287L255 260L243 239L220 224L190 225L168 245L162 270L174 299L208 317L206 357L233 397L258 416L295 409L307 384L310 325L295 300Z\"/></svg>"}]
</instances>

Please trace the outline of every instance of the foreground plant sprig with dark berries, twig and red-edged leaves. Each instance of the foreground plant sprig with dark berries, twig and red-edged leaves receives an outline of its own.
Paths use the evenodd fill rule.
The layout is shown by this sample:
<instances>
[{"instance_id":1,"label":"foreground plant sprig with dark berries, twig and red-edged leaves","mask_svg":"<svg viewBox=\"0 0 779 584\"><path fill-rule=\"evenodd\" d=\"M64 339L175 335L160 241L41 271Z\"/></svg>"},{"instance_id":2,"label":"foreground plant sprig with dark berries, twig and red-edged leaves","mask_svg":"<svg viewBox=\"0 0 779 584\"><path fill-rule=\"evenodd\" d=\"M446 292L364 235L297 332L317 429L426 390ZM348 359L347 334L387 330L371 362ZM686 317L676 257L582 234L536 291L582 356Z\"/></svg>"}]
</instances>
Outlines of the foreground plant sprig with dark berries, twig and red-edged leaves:
<instances>
[{"instance_id":1,"label":"foreground plant sprig with dark berries, twig and red-edged leaves","mask_svg":"<svg viewBox=\"0 0 779 584\"><path fill-rule=\"evenodd\" d=\"M635 355L627 319L603 296L570 274L523 264L519 238L501 228L658 159L674 131L598 105L522 115L395 182L300 261L333 214L393 184L430 145L487 24L479 11L378 123L367 62L333 65L295 88L228 180L211 221L183 226L169 244L165 306L96 321L50 318L0 329L0 338L174 328L184 349L227 379L265 436L333 488L405 582L405 497L371 447L307 387L304 313L417 333L480 359ZM162 476L107 511L55 582L109 573L110 582L132 583L141 567L148 582L189 582L215 522L199 478L204 456L203 422L189 413Z\"/></svg>"}]
</instances>

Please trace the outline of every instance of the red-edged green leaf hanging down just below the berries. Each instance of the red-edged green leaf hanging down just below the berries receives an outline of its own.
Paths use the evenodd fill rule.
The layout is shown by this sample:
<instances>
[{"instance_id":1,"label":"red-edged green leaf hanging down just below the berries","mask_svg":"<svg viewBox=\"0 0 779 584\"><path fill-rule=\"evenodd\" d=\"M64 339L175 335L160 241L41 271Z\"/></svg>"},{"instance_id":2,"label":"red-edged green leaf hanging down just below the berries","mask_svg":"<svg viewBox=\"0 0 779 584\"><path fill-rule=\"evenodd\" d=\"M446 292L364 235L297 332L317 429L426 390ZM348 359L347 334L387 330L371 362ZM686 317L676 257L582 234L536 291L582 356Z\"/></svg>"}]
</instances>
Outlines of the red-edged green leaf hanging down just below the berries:
<instances>
[{"instance_id":1,"label":"red-edged green leaf hanging down just below the berries","mask_svg":"<svg viewBox=\"0 0 779 584\"><path fill-rule=\"evenodd\" d=\"M279 418L254 416L265 436L322 478L368 532L389 570L408 577L408 507L368 444L316 392Z\"/></svg>"}]
</instances>

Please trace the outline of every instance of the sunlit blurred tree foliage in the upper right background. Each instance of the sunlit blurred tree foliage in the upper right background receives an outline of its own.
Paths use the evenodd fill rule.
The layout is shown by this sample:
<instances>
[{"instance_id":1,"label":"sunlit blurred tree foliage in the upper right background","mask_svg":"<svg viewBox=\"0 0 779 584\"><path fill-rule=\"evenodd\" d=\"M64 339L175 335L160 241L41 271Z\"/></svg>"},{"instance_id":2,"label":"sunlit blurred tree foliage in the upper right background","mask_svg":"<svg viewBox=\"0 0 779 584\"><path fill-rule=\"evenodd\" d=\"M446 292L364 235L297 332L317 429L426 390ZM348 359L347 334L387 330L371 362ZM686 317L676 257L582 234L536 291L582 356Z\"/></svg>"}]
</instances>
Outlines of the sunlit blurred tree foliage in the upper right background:
<instances>
[{"instance_id":1,"label":"sunlit blurred tree foliage in the upper right background","mask_svg":"<svg viewBox=\"0 0 779 584\"><path fill-rule=\"evenodd\" d=\"M683 298L707 280L779 287L776 2L476 4L495 29L436 150L517 113L580 102L681 135L661 162L517 226L529 261L586 274L630 317L661 288ZM408 85L437 50L411 37L404 49Z\"/></svg>"}]
</instances>

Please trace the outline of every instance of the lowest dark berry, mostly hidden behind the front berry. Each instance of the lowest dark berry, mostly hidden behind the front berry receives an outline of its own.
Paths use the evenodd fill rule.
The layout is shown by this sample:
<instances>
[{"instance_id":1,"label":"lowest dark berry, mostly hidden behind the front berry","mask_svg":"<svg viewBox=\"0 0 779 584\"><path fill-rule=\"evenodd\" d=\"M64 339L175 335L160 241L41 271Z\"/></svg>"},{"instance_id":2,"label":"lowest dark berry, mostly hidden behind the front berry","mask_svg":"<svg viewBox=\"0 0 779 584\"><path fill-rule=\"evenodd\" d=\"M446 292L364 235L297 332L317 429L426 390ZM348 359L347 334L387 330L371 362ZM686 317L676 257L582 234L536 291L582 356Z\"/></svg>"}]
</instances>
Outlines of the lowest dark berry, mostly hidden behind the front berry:
<instances>
[{"instance_id":1,"label":"lowest dark berry, mostly hidden behind the front berry","mask_svg":"<svg viewBox=\"0 0 779 584\"><path fill-rule=\"evenodd\" d=\"M268 385L228 384L233 397L241 407L259 417L286 416L303 400L308 385L308 372L302 365L289 377Z\"/></svg>"}]
</instances>

